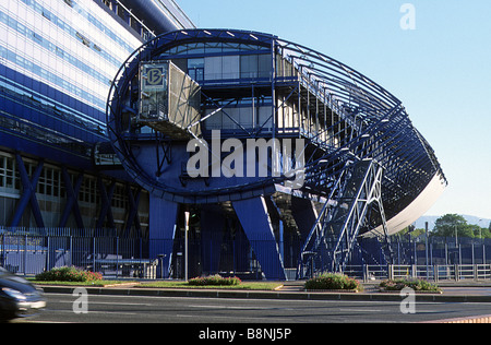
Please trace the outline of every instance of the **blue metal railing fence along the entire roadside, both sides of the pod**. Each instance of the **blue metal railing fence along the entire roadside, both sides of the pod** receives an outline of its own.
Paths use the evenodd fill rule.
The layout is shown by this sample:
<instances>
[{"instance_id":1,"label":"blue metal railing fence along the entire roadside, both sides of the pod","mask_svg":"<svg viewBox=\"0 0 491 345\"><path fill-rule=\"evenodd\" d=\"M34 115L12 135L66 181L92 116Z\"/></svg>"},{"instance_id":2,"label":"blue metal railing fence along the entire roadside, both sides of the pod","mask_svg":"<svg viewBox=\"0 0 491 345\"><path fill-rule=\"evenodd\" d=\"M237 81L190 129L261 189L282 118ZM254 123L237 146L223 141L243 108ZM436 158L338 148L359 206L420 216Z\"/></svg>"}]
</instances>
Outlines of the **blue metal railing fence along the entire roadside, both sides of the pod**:
<instances>
[{"instance_id":1,"label":"blue metal railing fence along the entire roadside, both sides of the pod","mask_svg":"<svg viewBox=\"0 0 491 345\"><path fill-rule=\"evenodd\" d=\"M280 252L288 279L297 272L298 243L285 245ZM188 243L189 277L223 274L241 278L263 277L256 253L246 238L205 242L190 239ZM163 249L171 248L169 260ZM373 250L370 255L373 257ZM151 258L151 253L153 257ZM394 264L367 260L347 265L344 273L362 281L418 277L432 281L491 279L491 240L455 240L432 238L426 241L393 241ZM271 254L271 253L270 253ZM0 229L0 265L21 275L33 276L57 266L77 266L100 272L105 277L183 278L185 246L182 238L148 240L122 238L110 231L92 231L80 236L64 229ZM263 257L264 255L263 253ZM267 258L267 257L266 257ZM373 258L372 258L373 259ZM165 264L164 264L165 262Z\"/></svg>"}]
</instances>

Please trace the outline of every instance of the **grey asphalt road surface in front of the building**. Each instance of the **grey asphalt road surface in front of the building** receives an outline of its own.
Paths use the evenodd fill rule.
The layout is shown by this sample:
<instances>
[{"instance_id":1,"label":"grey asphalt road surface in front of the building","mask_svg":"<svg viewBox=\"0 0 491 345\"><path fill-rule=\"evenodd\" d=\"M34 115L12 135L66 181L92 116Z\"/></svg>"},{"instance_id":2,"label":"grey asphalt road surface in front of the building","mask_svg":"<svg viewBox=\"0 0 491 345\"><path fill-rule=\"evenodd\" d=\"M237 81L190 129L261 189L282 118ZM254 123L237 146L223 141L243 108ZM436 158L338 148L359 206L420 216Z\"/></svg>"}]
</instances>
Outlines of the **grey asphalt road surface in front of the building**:
<instances>
[{"instance_id":1,"label":"grey asphalt road surface in front of the building","mask_svg":"<svg viewBox=\"0 0 491 345\"><path fill-rule=\"evenodd\" d=\"M491 304L321 301L46 294L40 316L14 323L408 323L491 313ZM86 298L86 299L81 299Z\"/></svg>"}]
</instances>

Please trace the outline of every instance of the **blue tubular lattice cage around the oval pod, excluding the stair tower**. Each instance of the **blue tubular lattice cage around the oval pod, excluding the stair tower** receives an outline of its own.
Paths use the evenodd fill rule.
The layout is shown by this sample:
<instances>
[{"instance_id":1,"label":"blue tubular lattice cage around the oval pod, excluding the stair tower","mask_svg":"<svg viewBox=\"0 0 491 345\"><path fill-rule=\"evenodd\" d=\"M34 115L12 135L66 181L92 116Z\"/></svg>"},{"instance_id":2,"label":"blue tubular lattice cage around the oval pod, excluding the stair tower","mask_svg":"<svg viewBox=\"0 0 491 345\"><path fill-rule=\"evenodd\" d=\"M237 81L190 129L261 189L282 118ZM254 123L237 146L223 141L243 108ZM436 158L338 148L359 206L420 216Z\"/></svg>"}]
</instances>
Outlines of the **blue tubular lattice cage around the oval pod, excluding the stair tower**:
<instances>
[{"instance_id":1,"label":"blue tubular lattice cage around the oval pod, excluding the stair tower","mask_svg":"<svg viewBox=\"0 0 491 345\"><path fill-rule=\"evenodd\" d=\"M122 114L135 111L134 106L131 108L131 102L124 97L133 88L142 61L160 59L161 53L172 47L208 41L255 45L263 47L262 51L271 51L271 78L261 80L260 83L248 79L233 80L230 84L236 85L233 87L219 85L216 81L208 85L204 81L202 98L212 108L216 108L212 115L221 111L239 127L240 133L236 132L235 135L288 136L295 132L295 135L306 138L311 153L306 159L306 187L310 191L327 195L330 187L339 178L349 159L375 159L385 169L383 194L387 216L391 218L404 210L435 174L440 174L442 180L445 179L432 148L414 128L402 102L360 72L326 55L274 35L230 29L185 29L158 36L136 50L115 78L108 98L107 122L112 145L134 180L147 190L158 190L158 193L163 190L169 195L189 200L201 193L167 185L163 180L157 181L153 174L149 175L139 165L137 157L132 152L132 141L128 140L128 134L123 134L128 129L124 128ZM172 58L179 56L170 55L169 59ZM272 115L266 120L273 123L272 133L265 133L263 127L243 128L224 110L227 102L246 94L250 97L251 94L254 95L254 90L273 95ZM224 103L218 104L218 98L213 95L223 97L220 100ZM285 102L304 109L307 122L300 123L296 129L280 127L279 112ZM202 123L207 117L196 123ZM160 148L156 147L157 176L164 162L169 162L165 150L167 143L163 145L164 142L159 141ZM277 182L282 181L264 179L248 187L208 189L203 197L214 194L219 200L219 195L224 193L240 194L244 188L262 190L265 186Z\"/></svg>"}]
</instances>

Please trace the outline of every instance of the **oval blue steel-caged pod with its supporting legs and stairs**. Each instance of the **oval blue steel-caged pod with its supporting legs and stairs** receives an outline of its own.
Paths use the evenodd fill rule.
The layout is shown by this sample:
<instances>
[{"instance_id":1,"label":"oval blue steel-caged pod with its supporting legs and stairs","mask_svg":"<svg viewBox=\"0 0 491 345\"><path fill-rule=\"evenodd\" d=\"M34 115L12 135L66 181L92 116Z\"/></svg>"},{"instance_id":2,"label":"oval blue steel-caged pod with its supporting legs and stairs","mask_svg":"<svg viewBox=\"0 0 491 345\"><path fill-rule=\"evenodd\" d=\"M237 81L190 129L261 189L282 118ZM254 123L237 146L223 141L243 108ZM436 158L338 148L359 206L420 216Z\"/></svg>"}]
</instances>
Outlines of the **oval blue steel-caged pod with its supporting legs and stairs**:
<instances>
[{"instance_id":1,"label":"oval blue steel-caged pod with its supporting legs and stairs","mask_svg":"<svg viewBox=\"0 0 491 345\"><path fill-rule=\"evenodd\" d=\"M388 236L447 183L398 98L264 33L181 29L147 41L113 79L107 127L151 194L149 238L165 241L149 254L166 258L163 272L188 229L212 243L189 253L197 274L226 270L225 240L241 237L250 247L233 260L243 271L254 260L268 279L342 272L375 255L363 249L370 238L388 262Z\"/></svg>"}]
</instances>

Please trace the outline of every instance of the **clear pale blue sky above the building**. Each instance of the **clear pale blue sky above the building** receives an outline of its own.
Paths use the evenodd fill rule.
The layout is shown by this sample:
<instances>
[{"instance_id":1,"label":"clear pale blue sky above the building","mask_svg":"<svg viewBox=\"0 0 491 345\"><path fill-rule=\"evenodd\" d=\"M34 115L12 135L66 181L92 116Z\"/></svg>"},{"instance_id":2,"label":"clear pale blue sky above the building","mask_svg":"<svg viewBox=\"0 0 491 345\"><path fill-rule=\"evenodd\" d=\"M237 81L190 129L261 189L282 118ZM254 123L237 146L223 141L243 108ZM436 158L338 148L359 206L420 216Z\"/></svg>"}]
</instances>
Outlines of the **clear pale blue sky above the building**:
<instances>
[{"instance_id":1,"label":"clear pale blue sky above the building","mask_svg":"<svg viewBox=\"0 0 491 345\"><path fill-rule=\"evenodd\" d=\"M275 34L398 97L450 186L428 215L491 218L490 0L176 0L197 27ZM416 29L400 27L404 3Z\"/></svg>"}]
</instances>

